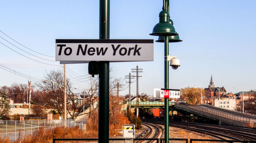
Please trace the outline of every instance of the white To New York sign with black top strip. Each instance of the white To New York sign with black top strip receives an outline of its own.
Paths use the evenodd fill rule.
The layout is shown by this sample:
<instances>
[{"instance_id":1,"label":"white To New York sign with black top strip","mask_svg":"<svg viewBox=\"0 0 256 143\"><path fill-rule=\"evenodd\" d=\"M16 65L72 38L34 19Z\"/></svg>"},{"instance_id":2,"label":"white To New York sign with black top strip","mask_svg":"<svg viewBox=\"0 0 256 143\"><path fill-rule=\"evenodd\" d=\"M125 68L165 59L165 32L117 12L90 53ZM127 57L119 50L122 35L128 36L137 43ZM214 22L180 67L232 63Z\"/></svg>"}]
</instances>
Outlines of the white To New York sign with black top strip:
<instances>
[{"instance_id":1,"label":"white To New York sign with black top strip","mask_svg":"<svg viewBox=\"0 0 256 143\"><path fill-rule=\"evenodd\" d=\"M153 40L56 39L55 60L67 64L154 61L153 43Z\"/></svg>"}]
</instances>

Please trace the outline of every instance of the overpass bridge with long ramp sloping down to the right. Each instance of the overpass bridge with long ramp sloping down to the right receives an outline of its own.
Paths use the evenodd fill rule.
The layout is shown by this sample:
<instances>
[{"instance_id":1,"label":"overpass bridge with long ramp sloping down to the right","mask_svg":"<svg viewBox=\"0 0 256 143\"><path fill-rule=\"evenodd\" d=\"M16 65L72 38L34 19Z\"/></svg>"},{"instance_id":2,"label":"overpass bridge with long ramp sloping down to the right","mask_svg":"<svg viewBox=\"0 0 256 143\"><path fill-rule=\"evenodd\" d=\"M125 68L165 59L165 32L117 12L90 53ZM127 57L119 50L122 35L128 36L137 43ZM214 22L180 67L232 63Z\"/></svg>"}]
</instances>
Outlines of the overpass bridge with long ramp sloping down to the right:
<instances>
[{"instance_id":1,"label":"overpass bridge with long ramp sloping down to the right","mask_svg":"<svg viewBox=\"0 0 256 143\"><path fill-rule=\"evenodd\" d=\"M127 102L129 106L129 102ZM136 108L136 102L131 102L131 107ZM139 102L139 108L164 108L164 102ZM182 116L190 117L191 115L219 122L219 124L228 124L233 126L256 128L256 116L245 113L218 108L209 105L182 105L169 102L169 110L176 110ZM173 114L172 114L173 115Z\"/></svg>"}]
</instances>

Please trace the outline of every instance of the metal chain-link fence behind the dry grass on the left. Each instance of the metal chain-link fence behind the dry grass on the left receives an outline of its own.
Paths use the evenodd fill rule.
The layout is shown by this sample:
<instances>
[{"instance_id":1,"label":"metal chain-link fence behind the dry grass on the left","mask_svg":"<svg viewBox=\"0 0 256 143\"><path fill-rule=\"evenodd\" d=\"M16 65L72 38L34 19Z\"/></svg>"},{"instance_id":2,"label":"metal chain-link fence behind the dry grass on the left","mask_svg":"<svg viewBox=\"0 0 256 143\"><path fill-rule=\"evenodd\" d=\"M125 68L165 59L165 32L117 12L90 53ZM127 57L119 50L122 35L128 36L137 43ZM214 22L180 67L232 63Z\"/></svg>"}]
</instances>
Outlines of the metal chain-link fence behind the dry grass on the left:
<instances>
[{"instance_id":1,"label":"metal chain-link fence behind the dry grass on the left","mask_svg":"<svg viewBox=\"0 0 256 143\"><path fill-rule=\"evenodd\" d=\"M25 138L33 134L40 127L45 130L58 126L83 128L83 123L76 123L75 120L28 120L28 121L0 121L0 136L9 137L10 140L16 140L18 137Z\"/></svg>"}]
</instances>

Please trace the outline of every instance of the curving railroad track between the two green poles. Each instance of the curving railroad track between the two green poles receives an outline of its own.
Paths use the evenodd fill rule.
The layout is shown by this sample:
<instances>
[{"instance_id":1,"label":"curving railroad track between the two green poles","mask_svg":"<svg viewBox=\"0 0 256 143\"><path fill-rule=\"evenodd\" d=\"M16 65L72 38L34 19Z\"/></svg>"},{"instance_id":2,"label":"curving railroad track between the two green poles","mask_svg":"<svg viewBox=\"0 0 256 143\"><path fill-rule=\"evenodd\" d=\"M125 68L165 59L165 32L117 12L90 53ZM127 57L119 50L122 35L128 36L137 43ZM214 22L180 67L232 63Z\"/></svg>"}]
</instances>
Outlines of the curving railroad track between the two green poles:
<instances>
[{"instance_id":1,"label":"curving railroad track between the two green poles","mask_svg":"<svg viewBox=\"0 0 256 143\"><path fill-rule=\"evenodd\" d=\"M146 133L142 133L138 138L160 138L162 135L162 127L152 123L142 123L142 125L148 128ZM137 143L147 142L151 143L154 142L153 140L140 140L136 141Z\"/></svg>"}]
</instances>

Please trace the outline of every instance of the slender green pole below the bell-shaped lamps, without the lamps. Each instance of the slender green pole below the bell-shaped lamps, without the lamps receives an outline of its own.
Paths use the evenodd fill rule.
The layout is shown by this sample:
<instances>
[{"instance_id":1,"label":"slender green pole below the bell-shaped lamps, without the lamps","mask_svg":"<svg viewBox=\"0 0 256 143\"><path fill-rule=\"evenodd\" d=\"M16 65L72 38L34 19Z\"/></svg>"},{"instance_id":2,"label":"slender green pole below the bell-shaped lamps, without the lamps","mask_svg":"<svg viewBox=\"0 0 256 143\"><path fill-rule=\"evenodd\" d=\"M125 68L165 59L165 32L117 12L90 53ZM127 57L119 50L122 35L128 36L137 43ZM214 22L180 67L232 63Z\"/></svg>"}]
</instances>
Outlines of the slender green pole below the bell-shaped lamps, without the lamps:
<instances>
[{"instance_id":1,"label":"slender green pole below the bell-shaped lamps, without the lamps","mask_svg":"<svg viewBox=\"0 0 256 143\"><path fill-rule=\"evenodd\" d=\"M167 55L169 49L169 37L164 36L164 88L169 89L169 64ZM164 98L164 142L169 142L169 98Z\"/></svg>"}]
</instances>

